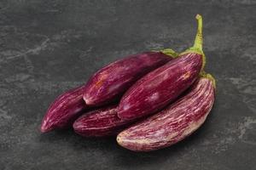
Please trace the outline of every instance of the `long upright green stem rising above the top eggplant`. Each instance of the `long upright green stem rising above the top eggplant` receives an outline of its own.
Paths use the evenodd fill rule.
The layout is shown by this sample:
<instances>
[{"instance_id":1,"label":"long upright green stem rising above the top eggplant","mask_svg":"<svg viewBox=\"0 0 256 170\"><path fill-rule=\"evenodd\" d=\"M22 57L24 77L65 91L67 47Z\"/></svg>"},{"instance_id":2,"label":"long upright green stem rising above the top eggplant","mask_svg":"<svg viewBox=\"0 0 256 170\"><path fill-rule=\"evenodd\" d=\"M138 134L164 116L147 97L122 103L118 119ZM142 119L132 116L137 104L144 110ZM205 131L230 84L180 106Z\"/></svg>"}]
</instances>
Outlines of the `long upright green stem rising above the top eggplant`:
<instances>
[{"instance_id":1,"label":"long upright green stem rising above the top eggplant","mask_svg":"<svg viewBox=\"0 0 256 170\"><path fill-rule=\"evenodd\" d=\"M198 27L193 48L202 50L202 17L200 14L196 14L195 19L197 20Z\"/></svg>"}]
</instances>

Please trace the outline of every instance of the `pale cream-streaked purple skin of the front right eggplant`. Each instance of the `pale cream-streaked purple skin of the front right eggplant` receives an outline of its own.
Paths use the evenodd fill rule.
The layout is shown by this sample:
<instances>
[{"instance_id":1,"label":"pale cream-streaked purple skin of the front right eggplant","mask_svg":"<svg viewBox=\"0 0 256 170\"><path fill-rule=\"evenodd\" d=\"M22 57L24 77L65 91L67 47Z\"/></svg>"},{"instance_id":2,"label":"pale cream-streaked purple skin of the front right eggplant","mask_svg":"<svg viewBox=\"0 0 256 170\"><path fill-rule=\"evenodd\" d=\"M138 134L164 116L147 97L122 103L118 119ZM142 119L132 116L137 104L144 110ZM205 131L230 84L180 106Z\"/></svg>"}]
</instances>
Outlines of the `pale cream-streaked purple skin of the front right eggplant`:
<instances>
[{"instance_id":1,"label":"pale cream-streaked purple skin of the front right eggplant","mask_svg":"<svg viewBox=\"0 0 256 170\"><path fill-rule=\"evenodd\" d=\"M214 96L212 81L201 78L173 105L119 133L117 141L134 151L158 150L175 144L201 127L212 109Z\"/></svg>"}]
</instances>

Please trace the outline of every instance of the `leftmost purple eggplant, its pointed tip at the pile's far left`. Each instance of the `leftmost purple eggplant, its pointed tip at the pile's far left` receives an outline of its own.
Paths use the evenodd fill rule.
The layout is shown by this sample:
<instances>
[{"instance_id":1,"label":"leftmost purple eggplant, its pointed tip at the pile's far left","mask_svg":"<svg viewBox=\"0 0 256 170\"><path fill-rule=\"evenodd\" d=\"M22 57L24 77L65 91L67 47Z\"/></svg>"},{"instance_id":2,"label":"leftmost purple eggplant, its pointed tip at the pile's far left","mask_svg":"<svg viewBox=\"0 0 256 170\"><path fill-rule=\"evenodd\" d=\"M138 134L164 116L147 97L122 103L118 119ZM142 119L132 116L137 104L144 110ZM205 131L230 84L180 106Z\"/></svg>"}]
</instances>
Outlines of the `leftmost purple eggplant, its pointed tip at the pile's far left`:
<instances>
[{"instance_id":1,"label":"leftmost purple eggplant, its pointed tip at the pile's far left","mask_svg":"<svg viewBox=\"0 0 256 170\"><path fill-rule=\"evenodd\" d=\"M46 133L55 128L72 126L75 119L80 116L87 106L83 99L84 86L73 88L61 94L49 106L41 124L41 132Z\"/></svg>"}]
</instances>

